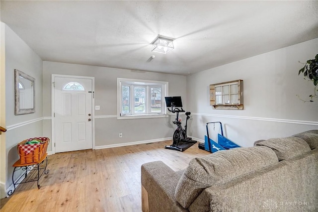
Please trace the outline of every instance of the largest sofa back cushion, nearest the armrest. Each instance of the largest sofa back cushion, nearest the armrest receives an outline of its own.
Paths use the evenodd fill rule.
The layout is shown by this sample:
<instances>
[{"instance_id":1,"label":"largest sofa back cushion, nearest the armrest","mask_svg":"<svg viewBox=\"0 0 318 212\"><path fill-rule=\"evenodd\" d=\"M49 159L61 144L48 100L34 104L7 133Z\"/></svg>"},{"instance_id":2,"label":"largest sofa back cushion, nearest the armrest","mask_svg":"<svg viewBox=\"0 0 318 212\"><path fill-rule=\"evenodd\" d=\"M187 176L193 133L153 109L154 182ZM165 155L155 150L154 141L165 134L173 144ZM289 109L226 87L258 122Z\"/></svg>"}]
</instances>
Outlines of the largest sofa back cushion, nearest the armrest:
<instances>
[{"instance_id":1,"label":"largest sofa back cushion, nearest the armrest","mask_svg":"<svg viewBox=\"0 0 318 212\"><path fill-rule=\"evenodd\" d=\"M188 208L204 189L277 162L275 152L265 146L222 150L194 158L178 182L175 198L183 208Z\"/></svg>"}]
</instances>

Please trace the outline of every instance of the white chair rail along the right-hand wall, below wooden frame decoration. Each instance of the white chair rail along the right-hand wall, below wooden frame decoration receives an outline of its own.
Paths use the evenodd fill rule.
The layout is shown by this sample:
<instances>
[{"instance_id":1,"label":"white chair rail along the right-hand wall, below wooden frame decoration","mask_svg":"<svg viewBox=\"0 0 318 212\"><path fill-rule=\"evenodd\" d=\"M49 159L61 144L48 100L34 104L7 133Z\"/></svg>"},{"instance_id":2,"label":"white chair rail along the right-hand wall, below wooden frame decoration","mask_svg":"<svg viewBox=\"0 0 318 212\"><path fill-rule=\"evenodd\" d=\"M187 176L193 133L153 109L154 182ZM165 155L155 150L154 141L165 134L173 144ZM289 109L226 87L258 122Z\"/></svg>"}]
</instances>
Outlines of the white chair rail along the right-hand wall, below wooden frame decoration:
<instances>
[{"instance_id":1,"label":"white chair rail along the right-hand wall, below wooden frame decoration","mask_svg":"<svg viewBox=\"0 0 318 212\"><path fill-rule=\"evenodd\" d=\"M248 117L248 116L235 116L235 115L216 115L216 114L205 114L205 113L191 113L191 115L212 116L212 117L221 117L221 118L237 118L237 119L247 119L247 120L257 120L257 121L272 121L272 122L280 122L280 123L292 123L292 124L318 126L318 121L302 121L302 120L291 120L291 119L262 118L262 117Z\"/></svg>"}]
</instances>

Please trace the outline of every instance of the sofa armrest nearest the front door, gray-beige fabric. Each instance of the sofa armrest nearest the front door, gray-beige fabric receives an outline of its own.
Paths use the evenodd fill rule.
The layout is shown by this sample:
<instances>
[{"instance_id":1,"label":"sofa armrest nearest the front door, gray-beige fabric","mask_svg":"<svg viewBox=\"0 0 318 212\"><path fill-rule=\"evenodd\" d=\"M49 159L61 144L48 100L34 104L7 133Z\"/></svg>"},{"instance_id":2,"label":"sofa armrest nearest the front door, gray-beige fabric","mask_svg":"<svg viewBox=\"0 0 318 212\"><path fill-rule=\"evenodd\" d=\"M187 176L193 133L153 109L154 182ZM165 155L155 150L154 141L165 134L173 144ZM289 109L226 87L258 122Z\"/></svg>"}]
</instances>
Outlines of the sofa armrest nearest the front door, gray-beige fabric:
<instances>
[{"instance_id":1,"label":"sofa armrest nearest the front door, gray-beige fabric","mask_svg":"<svg viewBox=\"0 0 318 212\"><path fill-rule=\"evenodd\" d=\"M141 166L143 212L188 212L174 197L175 188L183 172L175 172L162 161ZM148 207L147 207L148 201Z\"/></svg>"}]
</instances>

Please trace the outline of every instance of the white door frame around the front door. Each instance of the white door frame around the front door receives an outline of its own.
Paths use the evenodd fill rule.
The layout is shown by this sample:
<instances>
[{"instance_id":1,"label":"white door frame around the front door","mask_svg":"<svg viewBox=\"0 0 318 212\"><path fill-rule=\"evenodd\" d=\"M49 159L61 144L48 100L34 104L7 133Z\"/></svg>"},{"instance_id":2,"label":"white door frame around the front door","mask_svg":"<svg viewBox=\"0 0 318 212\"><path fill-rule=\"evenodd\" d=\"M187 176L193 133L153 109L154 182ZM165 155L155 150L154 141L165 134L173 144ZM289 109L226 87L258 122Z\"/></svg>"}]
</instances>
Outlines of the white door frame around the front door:
<instances>
[{"instance_id":1,"label":"white door frame around the front door","mask_svg":"<svg viewBox=\"0 0 318 212\"><path fill-rule=\"evenodd\" d=\"M94 77L86 77L86 76L74 76L74 75L61 75L61 74L52 74L51 77L51 124L52 124L52 154L55 154L55 87L54 87L54 78L61 77L61 78L79 78L79 79L90 79L92 80L92 102L91 102L91 119L92 119L92 149L95 149L95 98L94 98L94 90L95 90L95 78Z\"/></svg>"}]
</instances>

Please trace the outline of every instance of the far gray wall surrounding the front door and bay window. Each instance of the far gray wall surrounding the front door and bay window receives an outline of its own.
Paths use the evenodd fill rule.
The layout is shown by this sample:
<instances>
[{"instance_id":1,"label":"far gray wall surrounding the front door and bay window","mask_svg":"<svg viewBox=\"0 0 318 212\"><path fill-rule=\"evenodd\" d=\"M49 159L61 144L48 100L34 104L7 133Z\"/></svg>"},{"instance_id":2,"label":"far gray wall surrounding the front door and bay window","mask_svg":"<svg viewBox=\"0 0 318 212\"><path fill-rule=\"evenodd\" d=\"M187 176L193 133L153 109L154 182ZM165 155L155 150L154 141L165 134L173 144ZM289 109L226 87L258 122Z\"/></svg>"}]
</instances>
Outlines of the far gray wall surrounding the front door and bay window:
<instances>
[{"instance_id":1,"label":"far gray wall surrounding the front door and bay window","mask_svg":"<svg viewBox=\"0 0 318 212\"><path fill-rule=\"evenodd\" d=\"M166 81L170 96L181 96L186 103L186 77L144 71L133 71L77 64L43 62L44 132L51 129L51 75L77 75L95 77L95 146L116 146L139 141L155 141L172 137L172 119L145 118L117 120L117 78ZM119 132L123 137L119 138ZM51 147L49 147L51 148Z\"/></svg>"}]
</instances>

